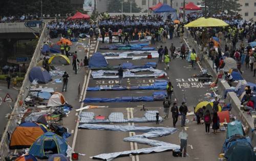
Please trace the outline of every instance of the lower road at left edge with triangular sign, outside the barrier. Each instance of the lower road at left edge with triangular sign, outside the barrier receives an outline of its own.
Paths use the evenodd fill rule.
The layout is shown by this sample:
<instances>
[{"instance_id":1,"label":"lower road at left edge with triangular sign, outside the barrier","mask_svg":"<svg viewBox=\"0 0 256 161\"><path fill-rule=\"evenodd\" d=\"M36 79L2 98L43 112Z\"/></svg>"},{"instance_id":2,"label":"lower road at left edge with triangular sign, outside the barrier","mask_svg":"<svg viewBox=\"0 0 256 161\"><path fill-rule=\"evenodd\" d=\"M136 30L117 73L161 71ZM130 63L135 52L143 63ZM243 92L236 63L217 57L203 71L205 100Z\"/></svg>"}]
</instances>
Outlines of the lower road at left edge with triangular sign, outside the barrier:
<instances>
[{"instance_id":1,"label":"lower road at left edge with triangular sign, outside the barrier","mask_svg":"<svg viewBox=\"0 0 256 161\"><path fill-rule=\"evenodd\" d=\"M7 89L7 85L0 84L0 98L2 98L2 104L0 103L0 135L2 135L2 133L4 132L4 128L8 122L8 113L11 113L12 111L8 103L4 102L7 93L11 96L13 100L11 103L9 103L13 107L18 95L18 88L10 87L10 89Z\"/></svg>"}]
</instances>

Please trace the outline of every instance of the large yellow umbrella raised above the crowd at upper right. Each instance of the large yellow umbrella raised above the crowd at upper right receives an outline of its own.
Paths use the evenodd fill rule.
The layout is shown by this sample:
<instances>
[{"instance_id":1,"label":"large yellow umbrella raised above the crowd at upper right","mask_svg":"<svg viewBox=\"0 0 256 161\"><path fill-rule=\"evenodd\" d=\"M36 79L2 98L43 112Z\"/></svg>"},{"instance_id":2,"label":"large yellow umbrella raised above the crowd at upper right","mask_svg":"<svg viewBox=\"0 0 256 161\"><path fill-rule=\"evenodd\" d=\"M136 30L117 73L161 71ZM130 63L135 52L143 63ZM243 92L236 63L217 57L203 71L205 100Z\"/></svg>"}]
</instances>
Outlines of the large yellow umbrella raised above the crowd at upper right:
<instances>
[{"instance_id":1,"label":"large yellow umbrella raised above the crowd at upper right","mask_svg":"<svg viewBox=\"0 0 256 161\"><path fill-rule=\"evenodd\" d=\"M221 19L210 18L210 17L209 18L201 17L185 25L185 27L189 27L189 28L220 27L220 26L228 26L228 24Z\"/></svg>"}]
</instances>

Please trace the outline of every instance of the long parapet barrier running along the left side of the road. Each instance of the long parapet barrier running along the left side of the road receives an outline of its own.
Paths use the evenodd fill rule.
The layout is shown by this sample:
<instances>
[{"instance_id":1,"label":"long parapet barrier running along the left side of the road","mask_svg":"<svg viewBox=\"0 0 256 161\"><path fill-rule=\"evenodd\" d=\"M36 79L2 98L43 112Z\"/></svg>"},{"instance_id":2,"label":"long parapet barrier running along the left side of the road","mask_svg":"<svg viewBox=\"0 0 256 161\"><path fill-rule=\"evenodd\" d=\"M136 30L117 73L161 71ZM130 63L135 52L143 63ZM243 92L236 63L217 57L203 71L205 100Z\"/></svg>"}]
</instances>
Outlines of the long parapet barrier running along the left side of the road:
<instances>
[{"instance_id":1,"label":"long parapet barrier running along the left side of the road","mask_svg":"<svg viewBox=\"0 0 256 161\"><path fill-rule=\"evenodd\" d=\"M33 54L33 57L31 59L31 62L29 64L27 73L25 75L25 79L23 81L22 87L19 90L19 94L17 96L17 100L14 104L14 108L12 110L12 113L10 115L9 121L6 125L5 131L3 133L1 142L0 142L0 160L5 160L5 156L8 156L8 153L10 152L9 149L9 143L10 143L10 136L12 132L15 130L17 125L20 123L20 115L17 113L22 112L22 102L24 102L24 99L28 96L28 88L31 85L31 82L29 81L29 71L32 67L36 66L37 62L40 59L41 54L41 47L44 41L46 41L48 37L48 29L46 28L46 24L43 24L44 28L42 29L42 32L40 33L40 38L38 40L38 43L36 45L35 52Z\"/></svg>"}]
</instances>

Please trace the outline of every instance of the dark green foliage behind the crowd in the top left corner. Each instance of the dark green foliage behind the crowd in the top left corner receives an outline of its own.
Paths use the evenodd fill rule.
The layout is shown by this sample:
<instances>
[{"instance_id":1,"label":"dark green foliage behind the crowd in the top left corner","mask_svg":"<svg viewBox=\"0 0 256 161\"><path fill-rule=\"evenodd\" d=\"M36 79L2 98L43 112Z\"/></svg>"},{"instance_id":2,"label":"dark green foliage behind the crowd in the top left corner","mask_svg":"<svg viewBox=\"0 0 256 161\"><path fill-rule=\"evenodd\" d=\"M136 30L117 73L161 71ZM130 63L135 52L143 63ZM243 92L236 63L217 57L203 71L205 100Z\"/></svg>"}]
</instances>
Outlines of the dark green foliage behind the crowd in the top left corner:
<instances>
[{"instance_id":1,"label":"dark green foliage behind the crowd in the top left corner","mask_svg":"<svg viewBox=\"0 0 256 161\"><path fill-rule=\"evenodd\" d=\"M0 1L0 15L23 15L35 14L40 16L41 0L8 0ZM43 14L62 14L73 13L70 0L42 0Z\"/></svg>"}]
</instances>

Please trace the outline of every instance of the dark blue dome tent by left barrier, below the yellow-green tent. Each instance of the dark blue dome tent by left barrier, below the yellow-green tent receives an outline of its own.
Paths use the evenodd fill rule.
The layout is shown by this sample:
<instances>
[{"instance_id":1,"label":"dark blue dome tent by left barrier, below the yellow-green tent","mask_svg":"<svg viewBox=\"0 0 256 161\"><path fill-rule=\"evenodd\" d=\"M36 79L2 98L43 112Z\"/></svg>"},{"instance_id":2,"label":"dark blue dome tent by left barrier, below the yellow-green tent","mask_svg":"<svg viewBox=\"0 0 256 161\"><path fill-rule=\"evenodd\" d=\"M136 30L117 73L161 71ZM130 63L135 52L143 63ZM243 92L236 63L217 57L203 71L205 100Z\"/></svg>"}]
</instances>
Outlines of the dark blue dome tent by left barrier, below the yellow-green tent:
<instances>
[{"instance_id":1,"label":"dark blue dome tent by left barrier, below the yellow-green tent","mask_svg":"<svg viewBox=\"0 0 256 161\"><path fill-rule=\"evenodd\" d=\"M52 80L49 72L45 68L40 66L33 67L29 72L29 81L37 80L38 83L48 83Z\"/></svg>"}]
</instances>

